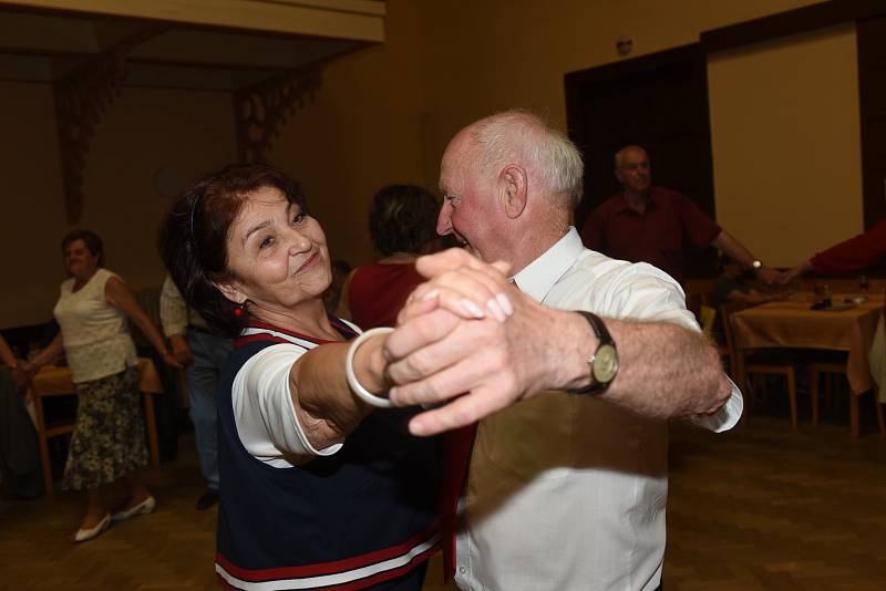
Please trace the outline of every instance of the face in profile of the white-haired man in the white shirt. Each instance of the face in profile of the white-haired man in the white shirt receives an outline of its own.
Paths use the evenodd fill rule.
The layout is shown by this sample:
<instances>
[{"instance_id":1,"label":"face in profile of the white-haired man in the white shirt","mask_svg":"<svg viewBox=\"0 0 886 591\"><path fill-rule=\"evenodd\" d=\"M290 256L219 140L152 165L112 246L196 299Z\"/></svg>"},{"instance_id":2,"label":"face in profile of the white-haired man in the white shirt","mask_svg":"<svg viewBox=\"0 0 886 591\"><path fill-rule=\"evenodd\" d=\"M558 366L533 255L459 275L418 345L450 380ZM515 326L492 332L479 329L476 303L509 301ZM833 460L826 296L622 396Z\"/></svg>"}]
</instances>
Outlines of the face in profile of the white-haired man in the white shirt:
<instances>
[{"instance_id":1,"label":"face in profile of the white-haired man in the white shirt","mask_svg":"<svg viewBox=\"0 0 886 591\"><path fill-rule=\"evenodd\" d=\"M440 236L454 236L471 253L484 260L496 260L495 184L472 166L475 153L462 133L450 142L443 154L440 165L443 207L436 231Z\"/></svg>"}]
</instances>

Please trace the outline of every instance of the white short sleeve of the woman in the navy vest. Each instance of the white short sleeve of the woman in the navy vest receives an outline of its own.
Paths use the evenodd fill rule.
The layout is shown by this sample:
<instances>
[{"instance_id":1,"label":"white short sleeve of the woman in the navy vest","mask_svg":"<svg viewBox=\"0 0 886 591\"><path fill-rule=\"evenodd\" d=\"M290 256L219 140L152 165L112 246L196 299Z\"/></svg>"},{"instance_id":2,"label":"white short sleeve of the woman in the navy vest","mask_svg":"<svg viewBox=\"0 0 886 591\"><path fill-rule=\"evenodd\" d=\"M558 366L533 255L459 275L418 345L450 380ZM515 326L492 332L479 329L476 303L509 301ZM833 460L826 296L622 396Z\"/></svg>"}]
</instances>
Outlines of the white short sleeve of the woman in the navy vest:
<instances>
[{"instance_id":1,"label":"white short sleeve of the woman in the navy vest","mask_svg":"<svg viewBox=\"0 0 886 591\"><path fill-rule=\"evenodd\" d=\"M247 452L277 468L297 464L299 456L330 456L342 445L316 449L296 416L289 370L306 352L290 343L268 346L253 355L234 379L237 435Z\"/></svg>"}]
</instances>

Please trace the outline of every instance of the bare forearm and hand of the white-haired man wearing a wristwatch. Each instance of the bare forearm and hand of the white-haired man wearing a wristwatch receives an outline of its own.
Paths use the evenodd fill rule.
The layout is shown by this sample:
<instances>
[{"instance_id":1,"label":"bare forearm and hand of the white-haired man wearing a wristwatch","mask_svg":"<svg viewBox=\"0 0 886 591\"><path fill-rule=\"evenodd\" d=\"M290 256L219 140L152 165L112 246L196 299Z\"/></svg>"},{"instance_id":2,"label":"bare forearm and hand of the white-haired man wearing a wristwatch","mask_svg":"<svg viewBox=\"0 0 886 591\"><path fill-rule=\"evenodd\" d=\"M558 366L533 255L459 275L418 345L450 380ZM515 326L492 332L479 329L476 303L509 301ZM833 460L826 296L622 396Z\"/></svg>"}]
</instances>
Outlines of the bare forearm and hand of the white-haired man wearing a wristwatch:
<instances>
[{"instance_id":1,"label":"bare forearm and hand of the white-haired man wearing a wristwatch","mask_svg":"<svg viewBox=\"0 0 886 591\"><path fill-rule=\"evenodd\" d=\"M453 260L437 261L476 265L476 259L446 257ZM509 289L501 280L501 289ZM411 405L455 398L413 418L413 433L451 429L542 391L590 383L587 360L597 339L587 321L545 308L513 288L507 296L514 313L504 322L464 321L442 309L429 311L426 301L403 310L385 344L394 360L389 374L401 384L391 390L391 400ZM645 416L671 418L713 413L729 398L731 383L701 334L670 322L604 320L618 346L620 369L601 400Z\"/></svg>"}]
</instances>

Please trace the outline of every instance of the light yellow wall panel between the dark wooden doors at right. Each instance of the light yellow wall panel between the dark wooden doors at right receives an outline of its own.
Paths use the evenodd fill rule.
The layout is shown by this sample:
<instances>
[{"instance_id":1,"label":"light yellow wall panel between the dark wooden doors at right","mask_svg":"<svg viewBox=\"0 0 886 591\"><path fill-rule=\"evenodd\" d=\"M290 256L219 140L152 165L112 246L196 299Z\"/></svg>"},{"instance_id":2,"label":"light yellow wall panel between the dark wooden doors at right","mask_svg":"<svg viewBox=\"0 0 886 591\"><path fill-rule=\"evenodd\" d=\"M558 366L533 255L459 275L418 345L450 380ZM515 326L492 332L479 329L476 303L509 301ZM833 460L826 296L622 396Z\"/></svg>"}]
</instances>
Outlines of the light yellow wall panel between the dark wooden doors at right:
<instances>
[{"instance_id":1,"label":"light yellow wall panel between the dark wooden doors at right","mask_svg":"<svg viewBox=\"0 0 886 591\"><path fill-rule=\"evenodd\" d=\"M862 231L855 27L723 52L708 64L721 224L775 266Z\"/></svg>"}]
</instances>

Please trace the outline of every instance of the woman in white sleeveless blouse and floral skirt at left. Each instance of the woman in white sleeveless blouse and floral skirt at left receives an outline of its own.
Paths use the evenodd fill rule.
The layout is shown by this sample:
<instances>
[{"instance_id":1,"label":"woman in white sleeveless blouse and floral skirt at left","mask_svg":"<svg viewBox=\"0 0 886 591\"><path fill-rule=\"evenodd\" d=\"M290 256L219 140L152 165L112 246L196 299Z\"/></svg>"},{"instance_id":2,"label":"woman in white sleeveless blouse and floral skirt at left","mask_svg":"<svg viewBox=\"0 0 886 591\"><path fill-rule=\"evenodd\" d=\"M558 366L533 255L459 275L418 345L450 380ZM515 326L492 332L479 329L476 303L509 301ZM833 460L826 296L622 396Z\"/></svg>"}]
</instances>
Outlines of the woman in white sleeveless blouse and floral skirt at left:
<instances>
[{"instance_id":1,"label":"woman in white sleeveless blouse and floral skirt at left","mask_svg":"<svg viewBox=\"0 0 886 591\"><path fill-rule=\"evenodd\" d=\"M70 276L61 284L54 315L61 332L25 370L33 373L62 349L76 385L79 406L62 480L63 489L86 490L86 515L74 536L85 541L112 520L150 514L156 505L137 468L147 463L138 398L138 360L127 317L173 366L159 331L116 274L102 268L101 238L73 230L62 239ZM130 490L126 506L111 515L109 484L122 479Z\"/></svg>"}]
</instances>

